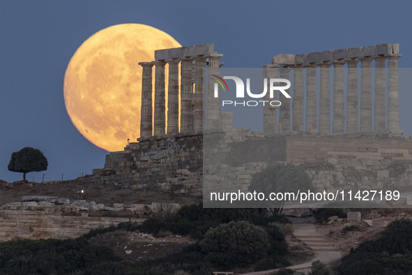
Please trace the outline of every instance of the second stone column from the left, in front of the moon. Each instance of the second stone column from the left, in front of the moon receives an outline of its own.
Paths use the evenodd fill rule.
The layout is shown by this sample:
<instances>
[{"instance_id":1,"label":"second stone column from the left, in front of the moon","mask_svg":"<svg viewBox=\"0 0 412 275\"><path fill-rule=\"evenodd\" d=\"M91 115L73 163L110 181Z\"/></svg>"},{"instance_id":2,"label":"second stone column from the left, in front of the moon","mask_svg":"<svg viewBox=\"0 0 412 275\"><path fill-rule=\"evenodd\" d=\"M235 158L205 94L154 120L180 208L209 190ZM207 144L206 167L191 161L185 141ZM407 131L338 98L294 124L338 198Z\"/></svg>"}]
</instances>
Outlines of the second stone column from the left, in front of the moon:
<instances>
[{"instance_id":1,"label":"second stone column from the left, in front of the moon","mask_svg":"<svg viewBox=\"0 0 412 275\"><path fill-rule=\"evenodd\" d=\"M155 135L166 133L165 64L163 60L155 61Z\"/></svg>"}]
</instances>

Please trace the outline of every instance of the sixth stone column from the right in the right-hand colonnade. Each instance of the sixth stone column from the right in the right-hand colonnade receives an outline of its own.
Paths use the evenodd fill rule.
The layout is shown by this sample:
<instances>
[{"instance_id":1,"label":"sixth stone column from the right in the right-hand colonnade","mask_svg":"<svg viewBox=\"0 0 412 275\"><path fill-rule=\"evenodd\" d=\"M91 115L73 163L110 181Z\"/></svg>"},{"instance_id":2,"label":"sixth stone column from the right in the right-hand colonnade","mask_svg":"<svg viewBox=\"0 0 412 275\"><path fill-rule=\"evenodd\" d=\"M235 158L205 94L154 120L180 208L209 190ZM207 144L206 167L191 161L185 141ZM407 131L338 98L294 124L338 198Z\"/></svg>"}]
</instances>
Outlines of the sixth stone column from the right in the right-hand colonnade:
<instances>
[{"instance_id":1,"label":"sixth stone column from the right in the right-hand colonnade","mask_svg":"<svg viewBox=\"0 0 412 275\"><path fill-rule=\"evenodd\" d=\"M321 67L321 91L319 94L319 132L330 135L330 80L329 63L323 63Z\"/></svg>"}]
</instances>

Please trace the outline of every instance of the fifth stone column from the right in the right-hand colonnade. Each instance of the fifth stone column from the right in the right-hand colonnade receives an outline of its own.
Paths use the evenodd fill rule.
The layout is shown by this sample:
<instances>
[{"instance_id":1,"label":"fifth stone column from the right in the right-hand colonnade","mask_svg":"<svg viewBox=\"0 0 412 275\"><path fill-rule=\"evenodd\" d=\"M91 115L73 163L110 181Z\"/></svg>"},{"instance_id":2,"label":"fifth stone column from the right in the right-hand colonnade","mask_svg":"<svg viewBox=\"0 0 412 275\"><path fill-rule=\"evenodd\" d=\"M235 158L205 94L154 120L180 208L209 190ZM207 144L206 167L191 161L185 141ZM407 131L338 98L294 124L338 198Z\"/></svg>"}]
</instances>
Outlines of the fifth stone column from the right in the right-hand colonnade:
<instances>
[{"instance_id":1,"label":"fifth stone column from the right in the right-hand colonnade","mask_svg":"<svg viewBox=\"0 0 412 275\"><path fill-rule=\"evenodd\" d=\"M345 107L344 107L344 61L335 61L333 66L333 135L345 133Z\"/></svg>"}]
</instances>

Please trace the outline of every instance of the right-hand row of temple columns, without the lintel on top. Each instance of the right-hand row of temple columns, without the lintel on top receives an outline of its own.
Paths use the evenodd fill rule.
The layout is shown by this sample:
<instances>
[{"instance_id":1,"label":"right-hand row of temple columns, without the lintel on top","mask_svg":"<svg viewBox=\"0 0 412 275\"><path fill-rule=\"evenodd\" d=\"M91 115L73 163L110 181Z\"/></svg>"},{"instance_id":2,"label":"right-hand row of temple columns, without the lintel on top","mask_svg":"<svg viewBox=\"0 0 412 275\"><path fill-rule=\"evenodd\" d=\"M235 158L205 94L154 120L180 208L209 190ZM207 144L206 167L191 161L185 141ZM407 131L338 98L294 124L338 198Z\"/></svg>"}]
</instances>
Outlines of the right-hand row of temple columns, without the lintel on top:
<instances>
[{"instance_id":1,"label":"right-hand row of temple columns, without the lintel on top","mask_svg":"<svg viewBox=\"0 0 412 275\"><path fill-rule=\"evenodd\" d=\"M371 62L375 60L375 97L374 97L374 131L386 130L386 119L388 119L388 130L399 133L399 84L398 84L398 59L400 54L392 54L388 57L365 57L361 59L350 59L347 61L324 62L320 64L320 94L319 94L319 125L318 125L318 103L316 96L316 67L313 66L265 66L266 77L271 74L280 78L289 78L289 71L293 69L293 106L290 115L290 101L280 98L281 131L307 131L325 135L339 135L345 133L366 133L372 131L372 74ZM386 73L385 63L388 61L388 117L386 117ZM361 64L360 73L360 121L358 121L358 62ZM346 85L346 116L344 109L344 64L348 64L348 77ZM330 66L333 69L333 124L330 128ZM270 68L271 67L271 68ZM306 68L306 128L304 128L304 91L303 70ZM272 73L268 73L269 71ZM292 126L290 119L292 117ZM264 131L270 128L270 121L276 121L275 109L266 107L264 109ZM359 123L358 123L359 122Z\"/></svg>"}]
</instances>

